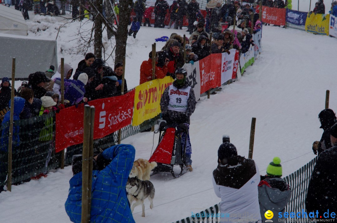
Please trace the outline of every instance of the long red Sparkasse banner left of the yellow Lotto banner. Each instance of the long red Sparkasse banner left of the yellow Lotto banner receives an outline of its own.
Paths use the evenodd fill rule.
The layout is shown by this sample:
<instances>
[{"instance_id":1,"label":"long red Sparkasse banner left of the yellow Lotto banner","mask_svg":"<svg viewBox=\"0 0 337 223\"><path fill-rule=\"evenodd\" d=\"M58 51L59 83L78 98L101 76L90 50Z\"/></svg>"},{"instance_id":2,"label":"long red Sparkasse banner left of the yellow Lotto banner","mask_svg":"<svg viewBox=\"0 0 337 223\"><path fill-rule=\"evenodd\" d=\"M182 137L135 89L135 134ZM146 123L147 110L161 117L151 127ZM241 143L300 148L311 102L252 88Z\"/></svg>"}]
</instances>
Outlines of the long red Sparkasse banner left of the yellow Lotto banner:
<instances>
[{"instance_id":1,"label":"long red Sparkasse banner left of the yellow Lotto banner","mask_svg":"<svg viewBox=\"0 0 337 223\"><path fill-rule=\"evenodd\" d=\"M134 92L89 101L90 106L95 106L94 139L131 124ZM56 114L56 152L83 142L83 116L84 104L62 109Z\"/></svg>"}]
</instances>

